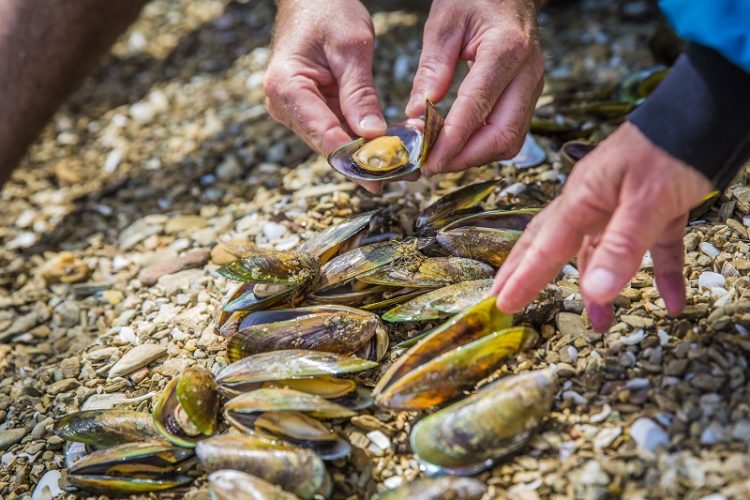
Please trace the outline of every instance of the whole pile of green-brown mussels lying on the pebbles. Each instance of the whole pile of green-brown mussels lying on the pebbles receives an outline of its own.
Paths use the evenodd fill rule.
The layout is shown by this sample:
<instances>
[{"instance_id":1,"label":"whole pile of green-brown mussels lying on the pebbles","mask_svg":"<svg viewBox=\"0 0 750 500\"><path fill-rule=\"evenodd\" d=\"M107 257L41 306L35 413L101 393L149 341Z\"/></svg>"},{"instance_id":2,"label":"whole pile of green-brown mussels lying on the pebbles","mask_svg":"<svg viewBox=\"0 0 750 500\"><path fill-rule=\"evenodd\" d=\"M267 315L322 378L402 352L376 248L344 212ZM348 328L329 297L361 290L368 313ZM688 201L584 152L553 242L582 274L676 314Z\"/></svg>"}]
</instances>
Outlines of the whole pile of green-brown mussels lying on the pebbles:
<instances>
[{"instance_id":1,"label":"whole pile of green-brown mussels lying on the pebbles","mask_svg":"<svg viewBox=\"0 0 750 500\"><path fill-rule=\"evenodd\" d=\"M258 251L220 268L240 282L216 317L232 363L216 374L185 369L151 415L110 409L63 417L55 432L71 442L70 483L117 495L178 487L208 472L215 498L325 497L331 481L324 462L351 447L324 422L373 404L444 406L411 433L428 475L471 475L523 446L553 403L553 370L503 378L461 399L537 340L534 330L512 326L489 295L496 267L538 211L481 211L498 184L442 197L420 214L414 237L369 242L378 217L370 212L298 250ZM383 321L444 318L394 346L402 354L374 389L362 383L389 352ZM462 496L484 491L466 478L437 481L431 487ZM391 494L408 498L409 488L427 487Z\"/></svg>"}]
</instances>

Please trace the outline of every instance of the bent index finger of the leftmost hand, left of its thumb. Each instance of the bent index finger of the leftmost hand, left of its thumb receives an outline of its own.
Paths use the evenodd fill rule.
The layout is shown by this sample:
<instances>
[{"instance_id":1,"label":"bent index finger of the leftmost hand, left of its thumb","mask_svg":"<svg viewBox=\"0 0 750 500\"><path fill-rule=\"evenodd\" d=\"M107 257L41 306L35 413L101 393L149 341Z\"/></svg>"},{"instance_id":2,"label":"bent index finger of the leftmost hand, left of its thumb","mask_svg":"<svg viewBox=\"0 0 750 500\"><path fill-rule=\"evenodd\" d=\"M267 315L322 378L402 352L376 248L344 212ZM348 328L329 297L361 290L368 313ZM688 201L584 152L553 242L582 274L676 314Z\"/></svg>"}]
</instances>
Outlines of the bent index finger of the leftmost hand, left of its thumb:
<instances>
[{"instance_id":1,"label":"bent index finger of the leftmost hand, left of its thumb","mask_svg":"<svg viewBox=\"0 0 750 500\"><path fill-rule=\"evenodd\" d=\"M271 116L319 153L328 155L351 140L312 80L298 75L285 83L267 81L265 89Z\"/></svg>"}]
</instances>

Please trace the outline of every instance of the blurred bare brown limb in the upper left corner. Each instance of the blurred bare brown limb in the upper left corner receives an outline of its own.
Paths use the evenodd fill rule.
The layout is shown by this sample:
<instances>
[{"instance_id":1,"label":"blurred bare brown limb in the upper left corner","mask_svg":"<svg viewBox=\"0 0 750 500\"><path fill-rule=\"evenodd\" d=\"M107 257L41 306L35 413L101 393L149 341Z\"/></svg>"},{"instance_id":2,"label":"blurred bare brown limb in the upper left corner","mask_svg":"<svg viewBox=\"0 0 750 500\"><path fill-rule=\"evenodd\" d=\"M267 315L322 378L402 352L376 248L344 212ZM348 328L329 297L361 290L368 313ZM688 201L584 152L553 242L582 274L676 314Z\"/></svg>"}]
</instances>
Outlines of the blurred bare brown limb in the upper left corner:
<instances>
[{"instance_id":1,"label":"blurred bare brown limb in the upper left corner","mask_svg":"<svg viewBox=\"0 0 750 500\"><path fill-rule=\"evenodd\" d=\"M0 185L144 0L0 0Z\"/></svg>"}]
</instances>

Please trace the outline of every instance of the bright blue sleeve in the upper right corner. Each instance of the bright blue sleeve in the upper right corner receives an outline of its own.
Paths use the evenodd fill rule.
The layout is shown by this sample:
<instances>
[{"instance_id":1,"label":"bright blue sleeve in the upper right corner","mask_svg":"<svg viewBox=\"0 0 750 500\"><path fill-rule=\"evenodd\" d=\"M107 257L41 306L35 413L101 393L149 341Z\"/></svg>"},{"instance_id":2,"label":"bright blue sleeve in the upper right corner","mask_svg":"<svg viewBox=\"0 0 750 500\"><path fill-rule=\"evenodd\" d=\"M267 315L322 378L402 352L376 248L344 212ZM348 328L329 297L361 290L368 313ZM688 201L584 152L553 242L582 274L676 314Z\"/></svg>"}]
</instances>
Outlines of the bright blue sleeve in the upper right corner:
<instances>
[{"instance_id":1,"label":"bright blue sleeve in the upper right corner","mask_svg":"<svg viewBox=\"0 0 750 500\"><path fill-rule=\"evenodd\" d=\"M659 6L682 38L750 73L750 0L659 0Z\"/></svg>"}]
</instances>

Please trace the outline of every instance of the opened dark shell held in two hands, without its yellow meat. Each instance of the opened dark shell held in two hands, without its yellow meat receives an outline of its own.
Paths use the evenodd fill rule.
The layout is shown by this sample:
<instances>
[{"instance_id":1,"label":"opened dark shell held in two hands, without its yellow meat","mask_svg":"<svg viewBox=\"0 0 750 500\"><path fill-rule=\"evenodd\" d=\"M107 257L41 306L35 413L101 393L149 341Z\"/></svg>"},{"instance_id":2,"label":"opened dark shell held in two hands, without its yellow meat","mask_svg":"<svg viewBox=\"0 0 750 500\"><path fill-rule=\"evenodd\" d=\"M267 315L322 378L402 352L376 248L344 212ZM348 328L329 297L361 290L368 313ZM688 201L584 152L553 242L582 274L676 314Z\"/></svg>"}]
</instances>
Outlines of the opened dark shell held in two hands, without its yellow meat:
<instances>
[{"instance_id":1,"label":"opened dark shell held in two hands, without its yellow meat","mask_svg":"<svg viewBox=\"0 0 750 500\"><path fill-rule=\"evenodd\" d=\"M406 125L394 125L388 127L385 136L398 137L406 150L404 161L398 162L399 166L390 169L370 169L361 165L356 160L358 152L366 147L365 139L359 138L348 142L336 149L328 156L328 163L338 172L350 179L361 181L393 181L403 178L413 172L419 171L427 160L430 149L440 133L443 126L443 117L434 104L429 100L426 103L424 133L414 127ZM389 152L394 155L395 152ZM383 158L390 163L393 158ZM395 163L394 163L395 164Z\"/></svg>"}]
</instances>

